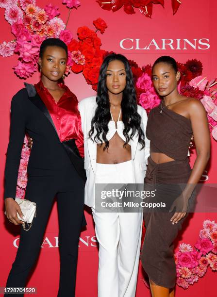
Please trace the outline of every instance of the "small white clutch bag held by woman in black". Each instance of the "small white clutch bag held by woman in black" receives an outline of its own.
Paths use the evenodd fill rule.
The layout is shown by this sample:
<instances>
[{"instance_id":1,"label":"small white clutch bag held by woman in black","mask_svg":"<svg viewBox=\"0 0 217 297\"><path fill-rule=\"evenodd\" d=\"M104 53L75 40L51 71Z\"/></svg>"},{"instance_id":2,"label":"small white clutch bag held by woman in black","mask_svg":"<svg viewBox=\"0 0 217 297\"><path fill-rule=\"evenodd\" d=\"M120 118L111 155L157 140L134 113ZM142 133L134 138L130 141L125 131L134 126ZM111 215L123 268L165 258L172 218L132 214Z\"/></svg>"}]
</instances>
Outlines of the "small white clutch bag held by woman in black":
<instances>
[{"instance_id":1,"label":"small white clutch bag held by woman in black","mask_svg":"<svg viewBox=\"0 0 217 297\"><path fill-rule=\"evenodd\" d=\"M29 231L32 227L33 217L36 217L36 203L27 199L15 198L15 201L19 204L23 218L17 213L17 217L20 221L23 221L23 229ZM6 214L6 213L5 213ZM25 223L28 224L29 229L25 228Z\"/></svg>"}]
</instances>

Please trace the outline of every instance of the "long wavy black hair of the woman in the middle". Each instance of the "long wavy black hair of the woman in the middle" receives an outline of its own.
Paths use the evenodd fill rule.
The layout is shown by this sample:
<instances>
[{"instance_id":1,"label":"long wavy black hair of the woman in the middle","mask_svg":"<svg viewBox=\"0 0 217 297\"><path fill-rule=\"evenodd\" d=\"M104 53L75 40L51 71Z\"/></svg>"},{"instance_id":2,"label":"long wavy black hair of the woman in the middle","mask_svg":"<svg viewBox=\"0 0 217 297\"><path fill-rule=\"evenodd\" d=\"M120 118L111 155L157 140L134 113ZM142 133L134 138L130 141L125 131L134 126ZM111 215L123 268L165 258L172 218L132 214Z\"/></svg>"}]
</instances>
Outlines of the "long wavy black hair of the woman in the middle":
<instances>
[{"instance_id":1,"label":"long wavy black hair of the woman in the middle","mask_svg":"<svg viewBox=\"0 0 217 297\"><path fill-rule=\"evenodd\" d=\"M125 66L126 71L126 87L123 90L123 98L121 101L121 110L122 110L122 121L124 123L123 134L126 137L126 142L124 143L124 147L126 144L132 139L135 133L138 133L138 142L142 145L142 148L145 147L145 135L141 129L141 116L137 113L137 103L136 103L136 95L134 88L134 79L131 70L131 66L126 57L121 54L109 54L105 57L102 62L100 68L100 77L97 88L97 108L95 115L91 121L91 130L89 131L89 137L92 139L94 132L96 131L96 135L94 136L94 140L96 142L100 141L102 145L102 140L100 135L105 142L105 146L103 150L109 148L109 141L106 138L108 133L108 123L111 120L110 114L110 101L108 96L108 89L106 86L106 70L111 61L118 60L121 61ZM128 133L132 129L131 135ZM93 140L93 139L92 139ZM142 149L141 148L141 149Z\"/></svg>"}]
</instances>

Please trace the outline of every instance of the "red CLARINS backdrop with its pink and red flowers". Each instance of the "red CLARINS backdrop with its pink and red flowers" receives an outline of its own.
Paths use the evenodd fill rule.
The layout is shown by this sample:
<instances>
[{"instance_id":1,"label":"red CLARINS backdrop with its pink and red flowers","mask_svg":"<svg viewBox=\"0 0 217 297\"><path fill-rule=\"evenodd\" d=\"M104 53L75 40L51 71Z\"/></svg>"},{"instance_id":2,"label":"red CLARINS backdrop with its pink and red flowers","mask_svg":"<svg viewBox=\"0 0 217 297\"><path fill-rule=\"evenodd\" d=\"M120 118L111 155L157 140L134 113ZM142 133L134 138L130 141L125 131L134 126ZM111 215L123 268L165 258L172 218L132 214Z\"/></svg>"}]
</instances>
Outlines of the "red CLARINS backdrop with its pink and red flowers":
<instances>
[{"instance_id":1,"label":"red CLARINS backdrop with its pink and red flowers","mask_svg":"<svg viewBox=\"0 0 217 297\"><path fill-rule=\"evenodd\" d=\"M19 4L17 6L17 3ZM23 82L36 83L40 75L37 58L40 43L59 37L68 45L65 83L79 100L96 94L99 68L111 51L131 63L138 104L149 113L159 104L151 80L151 65L170 55L181 72L179 91L201 100L209 120L211 159L201 182L217 181L217 4L202 0L0 0L0 286L15 259L19 227L4 217L3 171L7 150L10 102ZM25 142L25 140L24 140ZM46 149L46 148L45 148ZM29 148L24 145L17 180L17 197L23 198L27 182ZM190 161L196 158L191 150ZM77 297L97 296L98 244L91 212L85 209L87 228L82 231L77 270ZM217 214L190 214L176 242L177 297L216 296ZM130 238L129 238L130 240ZM58 218L56 203L28 286L37 296L56 296L59 281ZM150 296L140 265L136 297Z\"/></svg>"}]
</instances>

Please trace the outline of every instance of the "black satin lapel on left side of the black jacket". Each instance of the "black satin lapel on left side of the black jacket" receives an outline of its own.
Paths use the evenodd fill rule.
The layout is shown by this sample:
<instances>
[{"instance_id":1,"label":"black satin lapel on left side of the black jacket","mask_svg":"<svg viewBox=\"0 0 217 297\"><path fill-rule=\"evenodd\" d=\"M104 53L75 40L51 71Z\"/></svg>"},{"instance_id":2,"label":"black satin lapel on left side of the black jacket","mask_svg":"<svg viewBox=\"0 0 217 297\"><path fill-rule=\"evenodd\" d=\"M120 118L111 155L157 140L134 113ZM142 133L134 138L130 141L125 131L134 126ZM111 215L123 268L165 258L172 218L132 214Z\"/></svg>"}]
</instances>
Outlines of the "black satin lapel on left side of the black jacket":
<instances>
[{"instance_id":1,"label":"black satin lapel on left side of the black jacket","mask_svg":"<svg viewBox=\"0 0 217 297\"><path fill-rule=\"evenodd\" d=\"M46 107L46 105L44 104L44 102L42 101L42 99L39 97L38 93L35 90L35 87L33 86L33 84L24 82L29 99L31 100L31 102L38 108L40 109L40 111L47 117L47 119L50 121L50 124L53 126L53 128L56 131L56 127L53 123L53 120L50 116L50 113Z\"/></svg>"}]
</instances>

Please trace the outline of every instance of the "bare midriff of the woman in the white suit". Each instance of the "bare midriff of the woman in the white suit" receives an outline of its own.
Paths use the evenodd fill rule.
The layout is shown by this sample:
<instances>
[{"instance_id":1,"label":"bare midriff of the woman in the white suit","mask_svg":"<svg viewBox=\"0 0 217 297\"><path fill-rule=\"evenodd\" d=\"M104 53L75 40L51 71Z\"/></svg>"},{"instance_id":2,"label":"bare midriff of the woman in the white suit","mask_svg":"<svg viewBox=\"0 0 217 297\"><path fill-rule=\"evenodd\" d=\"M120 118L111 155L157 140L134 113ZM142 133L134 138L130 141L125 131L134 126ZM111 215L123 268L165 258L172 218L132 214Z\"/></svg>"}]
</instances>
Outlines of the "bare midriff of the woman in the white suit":
<instances>
[{"instance_id":1,"label":"bare midriff of the woman in the white suit","mask_svg":"<svg viewBox=\"0 0 217 297\"><path fill-rule=\"evenodd\" d=\"M117 132L109 140L108 150L103 150L104 147L105 143L97 145L97 163L118 164L131 160L131 146L126 144L126 147L124 147L124 141Z\"/></svg>"}]
</instances>

